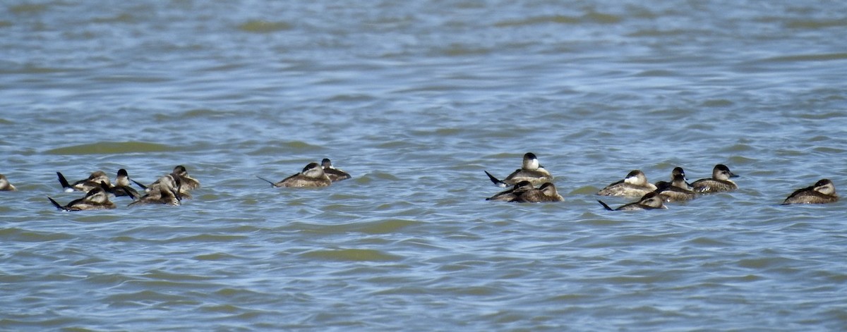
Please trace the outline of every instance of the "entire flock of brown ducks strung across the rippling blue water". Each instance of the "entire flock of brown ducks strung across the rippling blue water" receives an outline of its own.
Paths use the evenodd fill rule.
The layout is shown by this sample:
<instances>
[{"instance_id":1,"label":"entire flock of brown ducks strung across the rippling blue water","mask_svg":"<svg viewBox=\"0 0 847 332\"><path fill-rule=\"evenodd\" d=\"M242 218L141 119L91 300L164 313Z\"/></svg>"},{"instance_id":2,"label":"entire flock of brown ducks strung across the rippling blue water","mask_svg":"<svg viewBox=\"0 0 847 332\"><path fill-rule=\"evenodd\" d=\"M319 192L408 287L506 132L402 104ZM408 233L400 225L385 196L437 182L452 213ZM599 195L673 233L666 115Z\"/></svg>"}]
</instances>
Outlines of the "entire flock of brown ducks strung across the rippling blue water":
<instances>
[{"instance_id":1,"label":"entire flock of brown ducks strung across the rippling blue water","mask_svg":"<svg viewBox=\"0 0 847 332\"><path fill-rule=\"evenodd\" d=\"M116 205L110 201L111 196L128 196L132 199L129 206L138 204L166 204L180 205L185 198L191 198L191 192L200 187L200 182L190 175L185 166L178 165L169 174L165 174L150 185L142 185L136 180L130 179L126 169L119 169L112 183L108 175L98 170L83 180L70 183L61 172L56 172L58 182L64 191L83 191L86 195L75 199L67 204L60 204L47 196L54 207L64 211L112 209ZM544 166L541 166L538 158L533 153L523 155L523 163L520 169L516 169L505 179L498 180L494 175L485 171L489 180L501 187L512 186L507 191L501 191L486 198L487 201L500 202L562 202L565 199L556 191L556 185L551 182L553 176ZM605 202L597 200L607 210L629 211L650 210L656 208L667 208L665 202L682 202L695 199L696 197L723 191L734 191L738 189L731 178L737 177L726 165L717 164L711 171L711 178L696 180L688 183L685 171L675 168L671 172L671 181L659 181L652 184L647 181L647 176L639 169L629 172L623 180L611 185L606 185L599 196L634 196L640 197L638 201L625 204L619 208L610 208ZM350 179L350 174L332 166L329 158L324 158L321 163L309 163L301 172L293 174L279 182L266 180L274 187L324 187L333 182ZM131 185L135 184L141 191ZM538 185L536 187L536 185ZM17 189L9 183L6 176L0 174L0 191L16 191ZM794 191L783 201L785 204L821 204L838 202L839 196L835 193L833 181L823 179L815 185Z\"/></svg>"}]
</instances>

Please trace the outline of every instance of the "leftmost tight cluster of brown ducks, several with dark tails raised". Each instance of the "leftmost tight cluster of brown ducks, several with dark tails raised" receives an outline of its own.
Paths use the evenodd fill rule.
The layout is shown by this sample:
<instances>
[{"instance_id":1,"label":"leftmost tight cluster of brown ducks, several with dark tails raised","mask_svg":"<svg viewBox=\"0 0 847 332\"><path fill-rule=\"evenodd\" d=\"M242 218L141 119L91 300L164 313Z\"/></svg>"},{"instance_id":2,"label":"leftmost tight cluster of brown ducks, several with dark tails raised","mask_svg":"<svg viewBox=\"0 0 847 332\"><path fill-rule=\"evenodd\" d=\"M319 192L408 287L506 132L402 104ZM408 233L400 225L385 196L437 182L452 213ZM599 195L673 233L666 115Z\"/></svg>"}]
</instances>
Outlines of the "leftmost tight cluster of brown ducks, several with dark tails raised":
<instances>
[{"instance_id":1,"label":"leftmost tight cluster of brown ducks, several with dark tails raised","mask_svg":"<svg viewBox=\"0 0 847 332\"><path fill-rule=\"evenodd\" d=\"M103 171L96 171L84 180L70 184L65 180L61 172L56 172L58 181L65 191L85 191L86 196L69 202L66 205L59 204L52 197L47 199L53 206L64 211L101 210L115 208L115 204L109 201L108 194L114 196L130 196L136 204L168 204L180 205L183 197L191 197L188 191L200 186L200 182L188 175L185 166L178 165L167 175L159 178L151 185L142 185L136 180L131 180L126 169L119 169L115 184L109 182L108 175ZM145 195L141 196L138 191L130 187L130 180L140 186Z\"/></svg>"}]
</instances>

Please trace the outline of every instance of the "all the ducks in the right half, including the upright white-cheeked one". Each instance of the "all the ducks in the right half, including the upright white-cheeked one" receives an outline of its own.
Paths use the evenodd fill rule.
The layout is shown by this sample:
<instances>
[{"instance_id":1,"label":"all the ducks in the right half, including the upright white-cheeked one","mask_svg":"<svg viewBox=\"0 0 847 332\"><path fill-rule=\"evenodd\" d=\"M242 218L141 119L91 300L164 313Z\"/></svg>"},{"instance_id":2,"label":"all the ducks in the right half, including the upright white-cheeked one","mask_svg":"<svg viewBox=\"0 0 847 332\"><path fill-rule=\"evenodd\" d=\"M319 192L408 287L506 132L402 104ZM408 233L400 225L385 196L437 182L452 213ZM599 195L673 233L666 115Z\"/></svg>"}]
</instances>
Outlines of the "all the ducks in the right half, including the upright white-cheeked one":
<instances>
[{"instance_id":1,"label":"all the ducks in the right half, including the upright white-cheeked one","mask_svg":"<svg viewBox=\"0 0 847 332\"><path fill-rule=\"evenodd\" d=\"M562 202L564 198L556 192L556 186L552 184L553 176L544 166L541 166L538 158L533 153L523 155L523 163L520 169L516 169L506 179L498 180L494 175L485 171L489 180L495 185L506 187L512 185L512 189L501 191L494 196L486 198L488 201L502 202ZM717 164L711 171L711 178L696 180L688 183L685 171L674 168L671 172L671 181L659 181L652 184L647 181L647 176L639 169L629 172L623 180L619 180L597 192L599 196L634 196L640 197L638 201L631 202L619 208L610 208L605 202L597 200L606 210L630 211L650 210L656 208L667 208L665 202L683 202L696 197L723 191L734 191L738 189L731 178L738 177L726 165ZM539 185L539 187L535 187ZM838 202L839 196L835 194L833 181L823 179L815 185L794 191L783 201L786 204L822 204Z\"/></svg>"}]
</instances>

